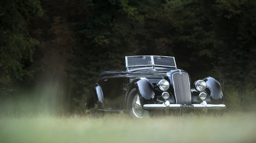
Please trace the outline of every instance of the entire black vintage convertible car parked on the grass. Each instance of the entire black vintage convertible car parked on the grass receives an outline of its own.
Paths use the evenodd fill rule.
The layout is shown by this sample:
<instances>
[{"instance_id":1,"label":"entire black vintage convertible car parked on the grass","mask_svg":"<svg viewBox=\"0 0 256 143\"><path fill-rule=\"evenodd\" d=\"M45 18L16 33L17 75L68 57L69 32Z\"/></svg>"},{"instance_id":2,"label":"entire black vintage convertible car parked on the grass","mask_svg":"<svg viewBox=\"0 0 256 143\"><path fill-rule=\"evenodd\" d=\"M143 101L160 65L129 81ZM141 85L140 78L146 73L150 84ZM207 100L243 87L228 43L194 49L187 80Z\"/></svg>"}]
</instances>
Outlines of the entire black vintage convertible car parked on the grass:
<instances>
[{"instance_id":1,"label":"entire black vintage convertible car parked on the grass","mask_svg":"<svg viewBox=\"0 0 256 143\"><path fill-rule=\"evenodd\" d=\"M128 111L143 118L151 111L225 109L222 87L212 77L195 81L172 56L126 56L126 71L102 72L86 107L95 111Z\"/></svg>"}]
</instances>

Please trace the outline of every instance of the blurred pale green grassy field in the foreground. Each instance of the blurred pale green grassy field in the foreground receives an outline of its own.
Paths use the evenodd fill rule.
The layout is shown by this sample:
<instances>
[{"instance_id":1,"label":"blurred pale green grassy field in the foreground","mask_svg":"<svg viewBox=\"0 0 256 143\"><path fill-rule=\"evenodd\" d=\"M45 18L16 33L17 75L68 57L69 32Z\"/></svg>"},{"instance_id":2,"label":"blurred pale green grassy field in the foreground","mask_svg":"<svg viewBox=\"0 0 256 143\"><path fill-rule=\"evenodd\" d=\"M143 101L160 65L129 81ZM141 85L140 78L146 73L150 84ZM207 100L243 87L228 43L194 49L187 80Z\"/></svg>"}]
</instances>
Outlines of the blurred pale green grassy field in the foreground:
<instances>
[{"instance_id":1,"label":"blurred pale green grassy field in the foreground","mask_svg":"<svg viewBox=\"0 0 256 143\"><path fill-rule=\"evenodd\" d=\"M0 142L256 142L256 113L130 119L104 117L1 117Z\"/></svg>"}]
</instances>

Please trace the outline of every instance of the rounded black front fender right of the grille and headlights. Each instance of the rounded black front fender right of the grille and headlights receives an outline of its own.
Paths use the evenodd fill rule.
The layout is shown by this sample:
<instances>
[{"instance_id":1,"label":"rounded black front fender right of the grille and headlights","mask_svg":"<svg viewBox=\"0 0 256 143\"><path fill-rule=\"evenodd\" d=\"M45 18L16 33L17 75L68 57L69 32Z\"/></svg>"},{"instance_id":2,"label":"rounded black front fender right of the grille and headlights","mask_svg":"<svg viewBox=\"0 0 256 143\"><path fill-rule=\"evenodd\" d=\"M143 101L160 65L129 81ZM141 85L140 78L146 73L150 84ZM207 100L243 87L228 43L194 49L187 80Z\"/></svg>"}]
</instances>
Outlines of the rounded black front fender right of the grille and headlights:
<instances>
[{"instance_id":1,"label":"rounded black front fender right of the grille and headlights","mask_svg":"<svg viewBox=\"0 0 256 143\"><path fill-rule=\"evenodd\" d=\"M218 81L216 81L212 77L206 77L205 79L203 79L203 81L205 81L207 88L211 91L210 97L212 99L222 99L222 86Z\"/></svg>"}]
</instances>

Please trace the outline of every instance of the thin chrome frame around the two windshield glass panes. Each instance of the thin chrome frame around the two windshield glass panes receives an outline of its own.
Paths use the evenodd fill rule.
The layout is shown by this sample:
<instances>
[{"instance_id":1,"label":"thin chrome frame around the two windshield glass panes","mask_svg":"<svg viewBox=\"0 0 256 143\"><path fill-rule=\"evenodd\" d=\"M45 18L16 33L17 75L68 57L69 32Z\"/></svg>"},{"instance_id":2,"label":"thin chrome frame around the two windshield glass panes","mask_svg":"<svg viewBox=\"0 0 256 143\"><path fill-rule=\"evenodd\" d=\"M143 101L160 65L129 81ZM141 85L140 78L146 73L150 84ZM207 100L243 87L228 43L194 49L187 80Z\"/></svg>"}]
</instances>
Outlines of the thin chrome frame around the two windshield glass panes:
<instances>
[{"instance_id":1,"label":"thin chrome frame around the two windshield glass panes","mask_svg":"<svg viewBox=\"0 0 256 143\"><path fill-rule=\"evenodd\" d=\"M132 57L141 57L141 58L150 57L151 58L151 64L140 64L140 65L128 66L128 58L132 58ZM173 58L174 66L155 64L154 57L157 57L157 58ZM145 70L145 69L177 68L174 56L145 55L145 56L126 56L125 58L126 58L126 71L128 71L128 72L136 71L136 70ZM134 67L136 67L136 68L134 68ZM132 69L132 68L134 68L134 69Z\"/></svg>"}]
</instances>

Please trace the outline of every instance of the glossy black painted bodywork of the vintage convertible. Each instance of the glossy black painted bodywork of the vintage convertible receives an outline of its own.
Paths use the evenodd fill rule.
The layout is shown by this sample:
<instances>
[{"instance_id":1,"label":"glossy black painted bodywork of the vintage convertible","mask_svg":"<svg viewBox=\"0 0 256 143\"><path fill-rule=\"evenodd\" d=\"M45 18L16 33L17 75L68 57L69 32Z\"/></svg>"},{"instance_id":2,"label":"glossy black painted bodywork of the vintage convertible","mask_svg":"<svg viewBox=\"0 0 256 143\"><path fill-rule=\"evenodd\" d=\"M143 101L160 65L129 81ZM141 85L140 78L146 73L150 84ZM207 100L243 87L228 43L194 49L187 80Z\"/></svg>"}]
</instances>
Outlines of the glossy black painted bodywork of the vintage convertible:
<instances>
[{"instance_id":1,"label":"glossy black painted bodywork of the vintage convertible","mask_svg":"<svg viewBox=\"0 0 256 143\"><path fill-rule=\"evenodd\" d=\"M97 107L100 110L107 111L124 111L126 110L126 102L128 95L132 89L138 91L142 104L145 103L163 103L165 100L161 97L161 91L157 87L158 81L166 79L170 82L170 103L176 103L174 96L174 88L172 83L172 75L177 72L185 72L177 68L166 68L161 70L138 70L128 73L126 71L106 71L101 73L99 81L92 88L91 95L88 98L87 107ZM212 77L203 79L207 83L207 103L224 103L222 95L222 87ZM191 84L190 85L194 85ZM199 99L199 91L191 88L191 103L201 103ZM96 105L96 106L95 106Z\"/></svg>"}]
</instances>

